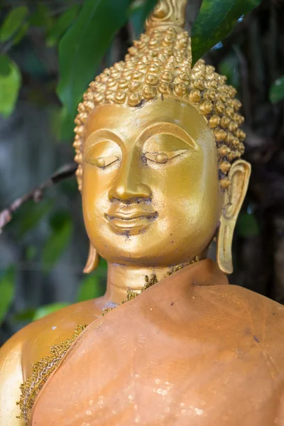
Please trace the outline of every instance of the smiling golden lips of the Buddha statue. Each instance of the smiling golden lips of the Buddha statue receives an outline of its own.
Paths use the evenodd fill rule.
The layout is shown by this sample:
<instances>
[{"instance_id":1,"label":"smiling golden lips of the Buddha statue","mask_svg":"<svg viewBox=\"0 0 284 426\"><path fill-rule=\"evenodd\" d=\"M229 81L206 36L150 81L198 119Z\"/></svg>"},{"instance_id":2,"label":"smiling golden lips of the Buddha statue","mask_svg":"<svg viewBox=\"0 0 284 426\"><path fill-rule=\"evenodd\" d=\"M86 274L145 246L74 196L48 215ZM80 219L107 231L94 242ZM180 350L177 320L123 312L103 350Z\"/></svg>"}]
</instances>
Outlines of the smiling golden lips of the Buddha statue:
<instances>
[{"instance_id":1,"label":"smiling golden lips of the Buddha statue","mask_svg":"<svg viewBox=\"0 0 284 426\"><path fill-rule=\"evenodd\" d=\"M105 219L109 223L114 231L119 234L140 234L145 231L151 222L153 222L158 217L158 212L148 213L148 212L116 212L115 214L104 214Z\"/></svg>"}]
</instances>

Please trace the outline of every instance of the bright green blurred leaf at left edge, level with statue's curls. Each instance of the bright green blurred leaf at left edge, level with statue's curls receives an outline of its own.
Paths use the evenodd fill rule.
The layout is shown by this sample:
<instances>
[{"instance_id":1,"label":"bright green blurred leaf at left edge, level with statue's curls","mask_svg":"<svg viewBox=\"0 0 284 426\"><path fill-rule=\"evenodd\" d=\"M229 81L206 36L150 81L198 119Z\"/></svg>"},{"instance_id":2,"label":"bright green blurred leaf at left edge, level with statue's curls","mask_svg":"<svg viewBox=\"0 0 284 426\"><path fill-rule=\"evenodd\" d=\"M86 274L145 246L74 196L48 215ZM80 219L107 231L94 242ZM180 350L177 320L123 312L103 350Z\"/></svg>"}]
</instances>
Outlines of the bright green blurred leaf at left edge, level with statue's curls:
<instances>
[{"instance_id":1,"label":"bright green blurred leaf at left edge, level with statue's curls","mask_svg":"<svg viewBox=\"0 0 284 426\"><path fill-rule=\"evenodd\" d=\"M21 73L8 56L0 55L0 114L8 117L12 112L21 87Z\"/></svg>"}]
</instances>

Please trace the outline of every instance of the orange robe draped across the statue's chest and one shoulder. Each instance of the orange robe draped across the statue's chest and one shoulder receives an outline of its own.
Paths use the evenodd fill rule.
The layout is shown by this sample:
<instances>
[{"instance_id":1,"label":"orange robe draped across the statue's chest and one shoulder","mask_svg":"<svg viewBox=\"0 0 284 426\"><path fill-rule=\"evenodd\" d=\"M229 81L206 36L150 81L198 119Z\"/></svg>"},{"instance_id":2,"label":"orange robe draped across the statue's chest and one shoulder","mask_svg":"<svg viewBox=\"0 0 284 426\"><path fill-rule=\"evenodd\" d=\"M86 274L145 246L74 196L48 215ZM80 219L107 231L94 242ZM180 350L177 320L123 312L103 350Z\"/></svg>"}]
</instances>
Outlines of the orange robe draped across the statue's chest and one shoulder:
<instances>
[{"instance_id":1,"label":"orange robe draped across the statue's chest and one shoulder","mask_svg":"<svg viewBox=\"0 0 284 426\"><path fill-rule=\"evenodd\" d=\"M187 266L89 324L32 426L284 425L284 307Z\"/></svg>"}]
</instances>

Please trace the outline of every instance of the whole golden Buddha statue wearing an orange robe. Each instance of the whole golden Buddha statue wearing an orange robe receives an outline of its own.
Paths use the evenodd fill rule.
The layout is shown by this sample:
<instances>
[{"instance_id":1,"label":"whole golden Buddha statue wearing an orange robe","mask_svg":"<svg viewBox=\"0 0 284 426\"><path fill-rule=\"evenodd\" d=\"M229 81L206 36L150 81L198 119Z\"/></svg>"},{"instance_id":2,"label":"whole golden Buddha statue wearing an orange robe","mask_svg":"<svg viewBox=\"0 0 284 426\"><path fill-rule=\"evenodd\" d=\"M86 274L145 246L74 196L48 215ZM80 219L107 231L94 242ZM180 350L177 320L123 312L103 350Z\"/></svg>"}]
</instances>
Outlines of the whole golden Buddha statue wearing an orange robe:
<instances>
[{"instance_id":1,"label":"whole golden Buddha statue wearing an orange robe","mask_svg":"<svg viewBox=\"0 0 284 426\"><path fill-rule=\"evenodd\" d=\"M251 172L241 105L192 67L185 5L160 1L78 107L85 272L105 258L107 292L3 346L0 426L284 425L284 308L226 278Z\"/></svg>"}]
</instances>

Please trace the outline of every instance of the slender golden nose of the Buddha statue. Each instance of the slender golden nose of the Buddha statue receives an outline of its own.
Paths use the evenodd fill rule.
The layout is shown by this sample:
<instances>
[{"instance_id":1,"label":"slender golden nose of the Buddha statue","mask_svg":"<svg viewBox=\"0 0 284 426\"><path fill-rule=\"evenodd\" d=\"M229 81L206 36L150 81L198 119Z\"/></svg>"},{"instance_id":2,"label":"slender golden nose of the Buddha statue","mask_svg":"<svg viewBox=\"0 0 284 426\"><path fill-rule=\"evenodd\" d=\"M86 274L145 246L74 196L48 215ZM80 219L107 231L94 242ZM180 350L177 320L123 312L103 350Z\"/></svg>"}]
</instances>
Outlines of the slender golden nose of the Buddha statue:
<instances>
[{"instance_id":1,"label":"slender golden nose of the Buddha statue","mask_svg":"<svg viewBox=\"0 0 284 426\"><path fill-rule=\"evenodd\" d=\"M119 175L109 191L109 200L130 201L151 198L151 190L143 182L141 162L136 158L136 153L124 158L121 163Z\"/></svg>"}]
</instances>

